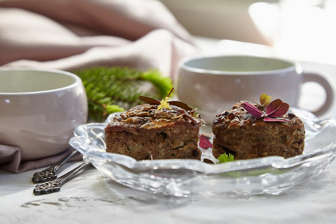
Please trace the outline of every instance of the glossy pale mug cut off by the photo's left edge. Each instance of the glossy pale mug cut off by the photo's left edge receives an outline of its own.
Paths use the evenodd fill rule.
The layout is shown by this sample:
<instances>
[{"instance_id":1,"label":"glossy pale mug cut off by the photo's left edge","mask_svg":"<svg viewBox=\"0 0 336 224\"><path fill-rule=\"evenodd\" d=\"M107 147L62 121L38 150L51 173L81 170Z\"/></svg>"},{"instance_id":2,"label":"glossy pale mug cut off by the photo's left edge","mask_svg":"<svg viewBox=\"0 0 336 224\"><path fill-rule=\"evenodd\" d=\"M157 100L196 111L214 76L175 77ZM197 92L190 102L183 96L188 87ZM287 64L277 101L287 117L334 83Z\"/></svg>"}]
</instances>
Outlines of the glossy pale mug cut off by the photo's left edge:
<instances>
[{"instance_id":1,"label":"glossy pale mug cut off by the photo's left edge","mask_svg":"<svg viewBox=\"0 0 336 224\"><path fill-rule=\"evenodd\" d=\"M87 120L81 79L66 71L0 68L0 144L19 147L22 160L55 155ZM8 161L0 161L1 163Z\"/></svg>"}]
</instances>

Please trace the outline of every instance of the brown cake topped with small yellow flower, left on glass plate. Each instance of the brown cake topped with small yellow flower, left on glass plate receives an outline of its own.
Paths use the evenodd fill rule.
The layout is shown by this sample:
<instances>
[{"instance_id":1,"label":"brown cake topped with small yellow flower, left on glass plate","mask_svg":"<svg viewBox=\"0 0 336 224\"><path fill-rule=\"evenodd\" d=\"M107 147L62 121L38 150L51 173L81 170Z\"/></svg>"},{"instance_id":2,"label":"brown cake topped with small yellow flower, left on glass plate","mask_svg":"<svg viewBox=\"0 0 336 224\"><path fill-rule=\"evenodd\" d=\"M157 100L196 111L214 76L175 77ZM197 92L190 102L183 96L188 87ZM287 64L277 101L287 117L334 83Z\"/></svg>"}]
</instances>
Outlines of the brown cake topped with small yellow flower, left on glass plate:
<instances>
[{"instance_id":1,"label":"brown cake topped with small yellow flower, left on glass plate","mask_svg":"<svg viewBox=\"0 0 336 224\"><path fill-rule=\"evenodd\" d=\"M201 150L197 146L200 118L192 122L174 110L157 108L158 105L143 104L116 115L105 128L106 151L136 160L200 160Z\"/></svg>"}]
</instances>

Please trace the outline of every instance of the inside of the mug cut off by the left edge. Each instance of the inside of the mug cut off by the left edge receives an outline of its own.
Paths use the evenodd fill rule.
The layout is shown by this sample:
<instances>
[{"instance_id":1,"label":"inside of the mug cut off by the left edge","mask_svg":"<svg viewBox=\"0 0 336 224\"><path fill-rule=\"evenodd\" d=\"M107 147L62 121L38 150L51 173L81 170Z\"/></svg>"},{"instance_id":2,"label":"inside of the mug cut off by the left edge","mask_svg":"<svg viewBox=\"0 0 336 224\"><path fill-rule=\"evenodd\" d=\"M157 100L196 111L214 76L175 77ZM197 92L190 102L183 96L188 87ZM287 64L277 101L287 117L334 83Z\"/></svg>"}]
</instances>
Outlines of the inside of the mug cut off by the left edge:
<instances>
[{"instance_id":1,"label":"inside of the mug cut off by the left edge","mask_svg":"<svg viewBox=\"0 0 336 224\"><path fill-rule=\"evenodd\" d=\"M2 70L0 93L27 93L58 89L76 82L75 76L56 71Z\"/></svg>"}]
</instances>

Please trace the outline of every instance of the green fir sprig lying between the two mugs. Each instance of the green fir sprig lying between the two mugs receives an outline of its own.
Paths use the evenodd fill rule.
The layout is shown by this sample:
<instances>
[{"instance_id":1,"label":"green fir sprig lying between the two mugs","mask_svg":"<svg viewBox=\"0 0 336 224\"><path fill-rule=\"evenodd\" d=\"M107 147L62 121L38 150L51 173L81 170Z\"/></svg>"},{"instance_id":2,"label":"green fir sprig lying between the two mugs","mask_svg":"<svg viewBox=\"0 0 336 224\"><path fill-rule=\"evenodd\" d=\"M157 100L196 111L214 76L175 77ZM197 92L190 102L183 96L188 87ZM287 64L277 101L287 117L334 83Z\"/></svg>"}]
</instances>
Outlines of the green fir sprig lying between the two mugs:
<instances>
[{"instance_id":1,"label":"green fir sprig lying between the two mugs","mask_svg":"<svg viewBox=\"0 0 336 224\"><path fill-rule=\"evenodd\" d=\"M74 73L83 81L89 117L95 121L103 121L110 113L141 104L137 99L139 95L163 98L172 88L172 80L163 77L158 70L90 67Z\"/></svg>"}]
</instances>

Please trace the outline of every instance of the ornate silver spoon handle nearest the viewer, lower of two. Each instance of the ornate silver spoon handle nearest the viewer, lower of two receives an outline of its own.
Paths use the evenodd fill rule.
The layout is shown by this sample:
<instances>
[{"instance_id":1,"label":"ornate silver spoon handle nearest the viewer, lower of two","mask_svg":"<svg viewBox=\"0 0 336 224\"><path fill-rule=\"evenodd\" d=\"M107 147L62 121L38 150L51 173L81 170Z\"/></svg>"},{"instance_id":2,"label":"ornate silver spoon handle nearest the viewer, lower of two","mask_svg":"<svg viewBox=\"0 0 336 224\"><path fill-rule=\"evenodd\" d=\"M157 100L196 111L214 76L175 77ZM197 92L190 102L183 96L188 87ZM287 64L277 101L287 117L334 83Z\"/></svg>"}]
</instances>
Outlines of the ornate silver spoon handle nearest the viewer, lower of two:
<instances>
[{"instance_id":1,"label":"ornate silver spoon handle nearest the viewer, lower of two","mask_svg":"<svg viewBox=\"0 0 336 224\"><path fill-rule=\"evenodd\" d=\"M44 184L38 184L36 185L33 193L35 195L41 195L41 194L49 194L53 192L57 192L60 190L60 186L64 184L67 180L69 180L72 176L77 174L79 171L81 171L84 167L90 165L90 162L83 162L79 166L77 166L75 169L72 171L66 173L65 175L53 180L49 181Z\"/></svg>"}]
</instances>

